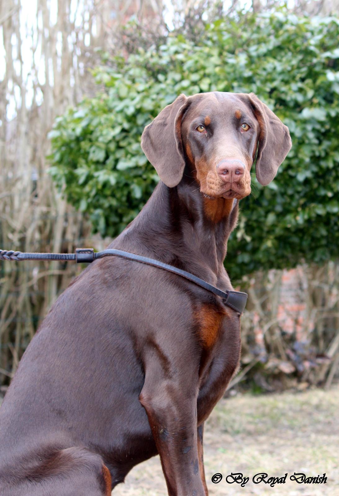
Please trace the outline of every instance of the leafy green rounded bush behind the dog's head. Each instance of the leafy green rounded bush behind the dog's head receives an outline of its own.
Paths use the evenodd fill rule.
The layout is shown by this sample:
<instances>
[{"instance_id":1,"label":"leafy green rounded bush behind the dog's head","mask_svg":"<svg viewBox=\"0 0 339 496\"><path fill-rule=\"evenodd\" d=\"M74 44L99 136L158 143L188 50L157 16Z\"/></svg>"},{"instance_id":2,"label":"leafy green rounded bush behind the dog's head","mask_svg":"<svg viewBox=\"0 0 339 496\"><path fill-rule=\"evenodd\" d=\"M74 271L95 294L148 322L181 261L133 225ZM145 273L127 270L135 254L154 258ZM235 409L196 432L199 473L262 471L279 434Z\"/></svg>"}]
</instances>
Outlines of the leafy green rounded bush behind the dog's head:
<instances>
[{"instance_id":1,"label":"leafy green rounded bush behind the dog's head","mask_svg":"<svg viewBox=\"0 0 339 496\"><path fill-rule=\"evenodd\" d=\"M114 59L94 77L103 88L56 120L51 174L94 232L116 236L158 181L140 147L143 128L179 93L251 92L290 128L293 147L269 186L253 174L226 266L233 279L257 269L338 256L339 19L239 14ZM112 64L110 64L112 66Z\"/></svg>"}]
</instances>

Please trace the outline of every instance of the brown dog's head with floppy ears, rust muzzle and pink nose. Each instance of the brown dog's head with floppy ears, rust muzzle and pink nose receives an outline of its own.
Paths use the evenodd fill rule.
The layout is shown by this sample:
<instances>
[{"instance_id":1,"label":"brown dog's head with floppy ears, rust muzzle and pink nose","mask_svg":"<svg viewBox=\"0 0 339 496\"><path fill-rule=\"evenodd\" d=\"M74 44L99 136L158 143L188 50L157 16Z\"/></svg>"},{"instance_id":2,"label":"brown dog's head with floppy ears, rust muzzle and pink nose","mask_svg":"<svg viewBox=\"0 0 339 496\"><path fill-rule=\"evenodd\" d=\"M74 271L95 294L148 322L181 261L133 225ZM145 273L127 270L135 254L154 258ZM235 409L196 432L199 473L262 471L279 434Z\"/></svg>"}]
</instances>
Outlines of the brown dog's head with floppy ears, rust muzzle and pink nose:
<instances>
[{"instance_id":1,"label":"brown dog's head with floppy ears, rust muzzle and pink nose","mask_svg":"<svg viewBox=\"0 0 339 496\"><path fill-rule=\"evenodd\" d=\"M244 198L250 170L270 183L291 148L288 128L254 93L180 95L145 127L141 146L169 187L185 165L208 197Z\"/></svg>"}]
</instances>

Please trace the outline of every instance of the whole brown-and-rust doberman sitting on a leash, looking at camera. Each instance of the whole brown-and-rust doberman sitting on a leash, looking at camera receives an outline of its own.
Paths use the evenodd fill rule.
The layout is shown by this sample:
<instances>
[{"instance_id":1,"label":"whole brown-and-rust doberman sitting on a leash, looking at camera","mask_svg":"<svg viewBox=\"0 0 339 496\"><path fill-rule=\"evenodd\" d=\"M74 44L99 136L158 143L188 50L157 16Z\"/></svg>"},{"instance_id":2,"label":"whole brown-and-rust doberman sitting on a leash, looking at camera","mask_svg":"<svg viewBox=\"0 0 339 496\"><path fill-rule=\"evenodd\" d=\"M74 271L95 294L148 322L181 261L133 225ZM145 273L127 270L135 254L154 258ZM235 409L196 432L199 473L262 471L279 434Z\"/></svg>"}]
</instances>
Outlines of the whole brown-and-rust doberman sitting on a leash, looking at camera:
<instances>
[{"instance_id":1,"label":"whole brown-and-rust doberman sitting on a leash, looking at camera","mask_svg":"<svg viewBox=\"0 0 339 496\"><path fill-rule=\"evenodd\" d=\"M156 258L223 291L228 237L250 169L262 185L291 147L254 94L180 95L143 133L160 183L110 248ZM105 257L58 298L0 408L1 496L108 496L160 459L171 496L208 494L203 423L237 370L240 315L157 267Z\"/></svg>"}]
</instances>

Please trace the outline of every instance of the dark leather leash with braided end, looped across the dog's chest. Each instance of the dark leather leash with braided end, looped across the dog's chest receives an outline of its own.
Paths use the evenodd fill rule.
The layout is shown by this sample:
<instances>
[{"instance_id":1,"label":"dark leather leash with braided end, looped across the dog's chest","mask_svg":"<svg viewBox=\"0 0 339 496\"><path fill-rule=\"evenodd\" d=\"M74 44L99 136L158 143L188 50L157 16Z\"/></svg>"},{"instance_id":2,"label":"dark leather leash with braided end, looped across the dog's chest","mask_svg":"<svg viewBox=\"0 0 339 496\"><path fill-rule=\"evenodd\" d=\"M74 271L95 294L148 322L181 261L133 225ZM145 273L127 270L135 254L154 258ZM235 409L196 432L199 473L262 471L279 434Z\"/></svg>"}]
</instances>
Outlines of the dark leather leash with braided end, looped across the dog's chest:
<instances>
[{"instance_id":1,"label":"dark leather leash with braided end, looped across the dog's chest","mask_svg":"<svg viewBox=\"0 0 339 496\"><path fill-rule=\"evenodd\" d=\"M153 265L154 267L160 267L161 269L168 270L173 274L178 274L179 276L194 282L207 291L220 296L223 303L232 310L242 313L245 309L248 296L247 293L229 290L221 291L221 289L212 286L208 282L196 277L190 272L178 269L173 265L160 262L159 260L154 260L153 258L136 255L135 253L129 253L128 251L122 251L119 249L105 249L95 253L93 248L77 248L75 253L25 253L14 250L0 250L0 260L15 260L17 262L20 262L21 260L76 260L78 263L90 263L97 258L110 255L121 256L136 262L146 263L148 265Z\"/></svg>"}]
</instances>

